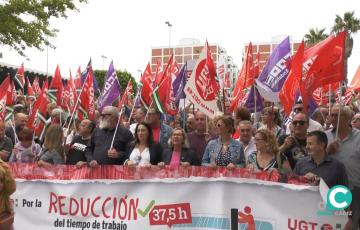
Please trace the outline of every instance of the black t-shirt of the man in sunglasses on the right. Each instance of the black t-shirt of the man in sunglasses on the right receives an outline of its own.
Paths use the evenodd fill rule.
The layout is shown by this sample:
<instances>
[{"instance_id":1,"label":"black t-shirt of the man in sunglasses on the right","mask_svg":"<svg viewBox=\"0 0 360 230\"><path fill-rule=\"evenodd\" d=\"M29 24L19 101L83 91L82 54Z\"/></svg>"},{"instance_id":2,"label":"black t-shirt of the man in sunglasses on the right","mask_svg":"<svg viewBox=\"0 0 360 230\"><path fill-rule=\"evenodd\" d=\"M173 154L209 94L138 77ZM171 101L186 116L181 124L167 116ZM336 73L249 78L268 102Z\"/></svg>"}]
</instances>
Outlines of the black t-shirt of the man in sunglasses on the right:
<instances>
[{"instance_id":1,"label":"black t-shirt of the man in sunglasses on the right","mask_svg":"<svg viewBox=\"0 0 360 230\"><path fill-rule=\"evenodd\" d=\"M282 135L279 137L279 140L278 140L279 146L284 144L285 138L288 136L289 135ZM299 159L304 158L308 155L307 150L306 150L306 138L302 139L302 140L298 139L294 136L293 136L293 138L294 138L293 145L290 148L285 149L285 151L283 152L283 154L289 160L292 170L294 170L296 162Z\"/></svg>"}]
</instances>

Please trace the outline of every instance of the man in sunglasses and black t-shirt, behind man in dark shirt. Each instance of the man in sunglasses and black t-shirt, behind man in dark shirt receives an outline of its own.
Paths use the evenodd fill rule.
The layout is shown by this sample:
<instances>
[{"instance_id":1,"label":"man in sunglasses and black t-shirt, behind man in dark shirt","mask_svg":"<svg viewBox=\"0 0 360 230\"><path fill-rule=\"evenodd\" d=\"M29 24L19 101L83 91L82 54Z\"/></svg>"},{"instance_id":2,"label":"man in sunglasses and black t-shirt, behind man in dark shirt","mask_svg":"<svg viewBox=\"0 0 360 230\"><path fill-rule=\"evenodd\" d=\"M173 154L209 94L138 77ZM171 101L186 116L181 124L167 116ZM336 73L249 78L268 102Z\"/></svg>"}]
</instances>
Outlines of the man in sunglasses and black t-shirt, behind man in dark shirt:
<instances>
[{"instance_id":1,"label":"man in sunglasses and black t-shirt, behind man in dark shirt","mask_svg":"<svg viewBox=\"0 0 360 230\"><path fill-rule=\"evenodd\" d=\"M308 116L303 113L297 113L292 122L292 135L282 135L279 137L279 149L289 160L291 169L294 169L296 162L307 156L306 134L309 128Z\"/></svg>"}]
</instances>

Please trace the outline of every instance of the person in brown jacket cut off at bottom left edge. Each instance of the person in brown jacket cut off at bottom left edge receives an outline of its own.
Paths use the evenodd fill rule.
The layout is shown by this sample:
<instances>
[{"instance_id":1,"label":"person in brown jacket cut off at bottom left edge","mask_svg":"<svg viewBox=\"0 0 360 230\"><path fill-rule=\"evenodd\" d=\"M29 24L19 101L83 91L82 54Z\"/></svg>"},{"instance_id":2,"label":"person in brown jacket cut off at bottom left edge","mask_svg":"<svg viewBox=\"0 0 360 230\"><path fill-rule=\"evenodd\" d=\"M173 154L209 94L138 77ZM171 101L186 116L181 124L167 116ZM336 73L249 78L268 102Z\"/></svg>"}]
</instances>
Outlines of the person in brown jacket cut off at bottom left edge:
<instances>
[{"instance_id":1,"label":"person in brown jacket cut off at bottom left edge","mask_svg":"<svg viewBox=\"0 0 360 230\"><path fill-rule=\"evenodd\" d=\"M10 203L10 195L16 190L16 183L9 166L0 159L0 229L12 230L14 212Z\"/></svg>"}]
</instances>

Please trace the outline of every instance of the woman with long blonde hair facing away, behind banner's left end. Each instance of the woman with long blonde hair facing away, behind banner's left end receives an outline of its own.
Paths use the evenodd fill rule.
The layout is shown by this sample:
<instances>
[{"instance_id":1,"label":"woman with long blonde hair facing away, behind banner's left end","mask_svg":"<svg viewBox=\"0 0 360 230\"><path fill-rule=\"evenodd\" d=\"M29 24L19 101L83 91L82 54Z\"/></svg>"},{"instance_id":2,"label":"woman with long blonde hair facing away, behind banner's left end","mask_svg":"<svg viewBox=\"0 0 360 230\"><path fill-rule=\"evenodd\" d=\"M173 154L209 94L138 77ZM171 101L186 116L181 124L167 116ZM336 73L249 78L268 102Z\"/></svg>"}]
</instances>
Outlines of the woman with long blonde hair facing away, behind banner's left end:
<instances>
[{"instance_id":1,"label":"woman with long blonde hair facing away, behind banner's left end","mask_svg":"<svg viewBox=\"0 0 360 230\"><path fill-rule=\"evenodd\" d=\"M60 125L50 125L46 130L43 150L39 154L37 164L50 166L52 164L64 164L64 133Z\"/></svg>"}]
</instances>

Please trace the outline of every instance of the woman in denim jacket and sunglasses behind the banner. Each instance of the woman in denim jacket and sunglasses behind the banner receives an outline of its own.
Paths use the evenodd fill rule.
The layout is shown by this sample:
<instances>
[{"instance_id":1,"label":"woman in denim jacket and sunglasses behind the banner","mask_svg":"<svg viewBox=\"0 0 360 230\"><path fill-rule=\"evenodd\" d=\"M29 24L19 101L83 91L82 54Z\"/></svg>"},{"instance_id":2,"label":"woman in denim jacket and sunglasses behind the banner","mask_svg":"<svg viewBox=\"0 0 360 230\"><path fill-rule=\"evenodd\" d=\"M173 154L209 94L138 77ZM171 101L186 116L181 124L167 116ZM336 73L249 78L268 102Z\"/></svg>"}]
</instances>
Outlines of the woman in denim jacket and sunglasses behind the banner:
<instances>
[{"instance_id":1,"label":"woman in denim jacket and sunglasses behind the banner","mask_svg":"<svg viewBox=\"0 0 360 230\"><path fill-rule=\"evenodd\" d=\"M235 131L234 120L229 116L221 116L216 119L215 124L219 137L207 144L202 165L243 167L245 163L243 147L231 137Z\"/></svg>"}]
</instances>

